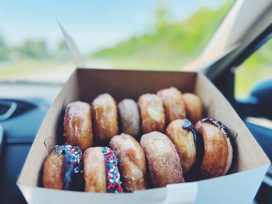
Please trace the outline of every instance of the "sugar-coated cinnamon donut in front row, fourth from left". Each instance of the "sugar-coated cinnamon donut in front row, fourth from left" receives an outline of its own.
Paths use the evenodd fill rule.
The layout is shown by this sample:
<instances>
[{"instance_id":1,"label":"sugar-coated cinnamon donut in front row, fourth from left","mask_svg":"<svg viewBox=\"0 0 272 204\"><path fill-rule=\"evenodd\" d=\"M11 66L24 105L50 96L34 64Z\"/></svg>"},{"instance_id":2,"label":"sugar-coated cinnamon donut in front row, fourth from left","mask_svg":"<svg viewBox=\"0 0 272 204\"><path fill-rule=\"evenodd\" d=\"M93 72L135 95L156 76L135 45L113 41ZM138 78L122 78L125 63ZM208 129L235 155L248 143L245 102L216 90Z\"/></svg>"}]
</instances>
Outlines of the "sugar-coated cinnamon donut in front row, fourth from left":
<instances>
[{"instance_id":1,"label":"sugar-coated cinnamon donut in front row, fourth from left","mask_svg":"<svg viewBox=\"0 0 272 204\"><path fill-rule=\"evenodd\" d=\"M178 152L166 135L147 133L141 137L140 144L155 188L184 182Z\"/></svg>"}]
</instances>

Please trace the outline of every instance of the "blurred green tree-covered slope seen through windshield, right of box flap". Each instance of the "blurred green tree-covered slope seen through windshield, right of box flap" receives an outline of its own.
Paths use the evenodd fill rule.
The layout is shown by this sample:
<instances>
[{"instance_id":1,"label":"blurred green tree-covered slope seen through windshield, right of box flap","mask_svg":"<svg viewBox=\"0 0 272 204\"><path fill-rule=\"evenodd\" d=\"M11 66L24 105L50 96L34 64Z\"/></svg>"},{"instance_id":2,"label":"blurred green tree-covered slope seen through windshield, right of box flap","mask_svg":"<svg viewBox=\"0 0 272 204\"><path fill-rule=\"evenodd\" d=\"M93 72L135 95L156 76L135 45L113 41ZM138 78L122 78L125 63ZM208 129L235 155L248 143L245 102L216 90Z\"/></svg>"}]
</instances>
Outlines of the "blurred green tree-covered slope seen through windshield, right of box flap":
<instances>
[{"instance_id":1,"label":"blurred green tree-covered slope seen through windshield, right of box flap","mask_svg":"<svg viewBox=\"0 0 272 204\"><path fill-rule=\"evenodd\" d=\"M132 37L114 47L99 50L92 56L112 60L120 57L151 59L156 56L158 62L169 60L167 56L178 56L179 61L186 63L200 54L231 6L228 2L218 10L204 7L184 21L168 22L169 11L162 3L155 12L154 33Z\"/></svg>"}]
</instances>

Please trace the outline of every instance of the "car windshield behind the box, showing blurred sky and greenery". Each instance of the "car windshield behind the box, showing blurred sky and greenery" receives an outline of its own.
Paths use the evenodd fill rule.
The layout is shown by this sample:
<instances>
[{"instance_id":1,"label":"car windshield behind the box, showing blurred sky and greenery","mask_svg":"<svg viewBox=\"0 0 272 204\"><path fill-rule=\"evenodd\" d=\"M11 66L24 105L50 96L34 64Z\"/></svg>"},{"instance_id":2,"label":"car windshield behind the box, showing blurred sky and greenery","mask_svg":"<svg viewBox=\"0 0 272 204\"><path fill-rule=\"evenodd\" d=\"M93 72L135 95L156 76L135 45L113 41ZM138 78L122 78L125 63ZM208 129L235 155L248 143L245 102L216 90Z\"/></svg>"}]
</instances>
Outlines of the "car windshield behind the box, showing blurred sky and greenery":
<instances>
[{"instance_id":1,"label":"car windshield behind the box, showing blurred sky and greenery","mask_svg":"<svg viewBox=\"0 0 272 204\"><path fill-rule=\"evenodd\" d=\"M75 68L59 21L88 67L180 70L232 1L4 1L0 81L64 83ZM19 20L18 20L19 19Z\"/></svg>"}]
</instances>

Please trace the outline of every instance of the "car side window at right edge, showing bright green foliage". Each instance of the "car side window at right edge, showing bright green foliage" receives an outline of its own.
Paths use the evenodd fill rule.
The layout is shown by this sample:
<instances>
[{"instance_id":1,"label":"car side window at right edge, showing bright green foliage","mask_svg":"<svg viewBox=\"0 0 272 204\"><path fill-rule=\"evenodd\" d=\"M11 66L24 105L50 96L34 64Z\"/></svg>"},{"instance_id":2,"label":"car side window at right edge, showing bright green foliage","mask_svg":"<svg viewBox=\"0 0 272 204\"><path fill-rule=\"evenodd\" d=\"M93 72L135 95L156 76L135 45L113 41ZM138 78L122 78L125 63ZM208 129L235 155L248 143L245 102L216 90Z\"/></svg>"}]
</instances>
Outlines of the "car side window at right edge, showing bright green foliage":
<instances>
[{"instance_id":1,"label":"car side window at right edge, showing bright green foliage","mask_svg":"<svg viewBox=\"0 0 272 204\"><path fill-rule=\"evenodd\" d=\"M266 79L272 79L272 39L236 68L235 97L248 95L254 84Z\"/></svg>"}]
</instances>

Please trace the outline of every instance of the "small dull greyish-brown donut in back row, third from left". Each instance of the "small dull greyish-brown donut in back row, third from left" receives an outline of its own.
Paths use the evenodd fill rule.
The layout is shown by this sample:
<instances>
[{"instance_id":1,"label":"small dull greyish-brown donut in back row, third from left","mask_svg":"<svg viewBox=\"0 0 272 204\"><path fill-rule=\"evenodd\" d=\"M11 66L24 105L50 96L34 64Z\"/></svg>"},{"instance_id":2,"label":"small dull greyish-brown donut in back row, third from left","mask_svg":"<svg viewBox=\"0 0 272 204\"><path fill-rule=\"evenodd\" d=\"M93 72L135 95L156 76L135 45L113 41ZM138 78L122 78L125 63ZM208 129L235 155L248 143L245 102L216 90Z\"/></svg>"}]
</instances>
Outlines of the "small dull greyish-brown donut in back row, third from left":
<instances>
[{"instance_id":1,"label":"small dull greyish-brown donut in back row, third from left","mask_svg":"<svg viewBox=\"0 0 272 204\"><path fill-rule=\"evenodd\" d=\"M140 116L136 102L132 99L123 99L118 104L121 118L122 132L138 137L140 132Z\"/></svg>"}]
</instances>

